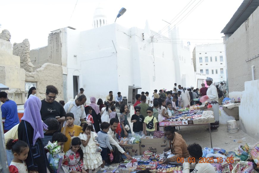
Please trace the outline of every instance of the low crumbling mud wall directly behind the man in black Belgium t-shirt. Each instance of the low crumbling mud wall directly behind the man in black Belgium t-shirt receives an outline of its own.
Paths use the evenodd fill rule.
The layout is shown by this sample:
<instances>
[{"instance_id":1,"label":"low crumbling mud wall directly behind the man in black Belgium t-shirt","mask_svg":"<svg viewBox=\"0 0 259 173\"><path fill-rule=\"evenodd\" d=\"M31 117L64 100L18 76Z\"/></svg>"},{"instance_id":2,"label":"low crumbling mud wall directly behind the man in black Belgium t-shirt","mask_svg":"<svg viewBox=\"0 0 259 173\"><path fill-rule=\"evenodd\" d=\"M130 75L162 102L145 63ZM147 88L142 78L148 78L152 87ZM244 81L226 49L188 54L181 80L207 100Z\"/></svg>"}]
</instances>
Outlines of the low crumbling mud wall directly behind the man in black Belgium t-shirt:
<instances>
[{"instance_id":1,"label":"low crumbling mud wall directly behind the man in black Belgium t-shirt","mask_svg":"<svg viewBox=\"0 0 259 173\"><path fill-rule=\"evenodd\" d=\"M46 86L54 85L58 89L56 101L64 100L63 96L63 70L62 66L45 63L35 72L26 72L26 82L37 82L37 96L40 99L46 98Z\"/></svg>"}]
</instances>

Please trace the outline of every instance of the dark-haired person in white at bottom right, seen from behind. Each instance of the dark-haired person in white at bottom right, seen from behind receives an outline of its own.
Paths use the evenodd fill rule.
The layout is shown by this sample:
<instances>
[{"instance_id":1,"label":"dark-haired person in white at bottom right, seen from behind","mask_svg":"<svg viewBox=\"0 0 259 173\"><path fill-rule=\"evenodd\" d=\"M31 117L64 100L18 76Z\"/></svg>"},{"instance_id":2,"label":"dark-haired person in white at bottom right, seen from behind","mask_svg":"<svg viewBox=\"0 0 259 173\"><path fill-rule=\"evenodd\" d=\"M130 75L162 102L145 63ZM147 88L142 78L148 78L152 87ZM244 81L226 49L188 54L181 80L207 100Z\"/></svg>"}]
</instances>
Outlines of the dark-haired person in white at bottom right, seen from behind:
<instances>
[{"instance_id":1,"label":"dark-haired person in white at bottom right, seen from behind","mask_svg":"<svg viewBox=\"0 0 259 173\"><path fill-rule=\"evenodd\" d=\"M190 153L190 158L186 158L183 163L183 173L190 173L191 169L194 169L191 173L216 173L215 169L210 163L204 163L200 158L202 158L202 147L199 144L190 144L187 147ZM192 163L190 166L190 162ZM195 167L195 168L194 168Z\"/></svg>"}]
</instances>

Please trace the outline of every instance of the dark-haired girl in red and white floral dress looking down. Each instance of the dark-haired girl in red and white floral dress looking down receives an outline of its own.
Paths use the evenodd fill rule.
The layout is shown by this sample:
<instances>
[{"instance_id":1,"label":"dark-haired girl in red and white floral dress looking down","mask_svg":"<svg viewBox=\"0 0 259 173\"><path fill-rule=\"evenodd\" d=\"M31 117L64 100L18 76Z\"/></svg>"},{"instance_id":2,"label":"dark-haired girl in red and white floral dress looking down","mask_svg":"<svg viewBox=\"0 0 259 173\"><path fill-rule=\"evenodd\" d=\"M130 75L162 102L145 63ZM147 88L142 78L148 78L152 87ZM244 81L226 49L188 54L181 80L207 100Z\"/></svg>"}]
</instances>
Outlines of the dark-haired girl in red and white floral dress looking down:
<instances>
[{"instance_id":1,"label":"dark-haired girl in red and white floral dress looking down","mask_svg":"<svg viewBox=\"0 0 259 173\"><path fill-rule=\"evenodd\" d=\"M81 140L78 137L75 137L71 141L71 148L65 153L64 159L68 158L63 163L63 166L68 172L71 173L86 173L83 166L83 151L80 148Z\"/></svg>"}]
</instances>

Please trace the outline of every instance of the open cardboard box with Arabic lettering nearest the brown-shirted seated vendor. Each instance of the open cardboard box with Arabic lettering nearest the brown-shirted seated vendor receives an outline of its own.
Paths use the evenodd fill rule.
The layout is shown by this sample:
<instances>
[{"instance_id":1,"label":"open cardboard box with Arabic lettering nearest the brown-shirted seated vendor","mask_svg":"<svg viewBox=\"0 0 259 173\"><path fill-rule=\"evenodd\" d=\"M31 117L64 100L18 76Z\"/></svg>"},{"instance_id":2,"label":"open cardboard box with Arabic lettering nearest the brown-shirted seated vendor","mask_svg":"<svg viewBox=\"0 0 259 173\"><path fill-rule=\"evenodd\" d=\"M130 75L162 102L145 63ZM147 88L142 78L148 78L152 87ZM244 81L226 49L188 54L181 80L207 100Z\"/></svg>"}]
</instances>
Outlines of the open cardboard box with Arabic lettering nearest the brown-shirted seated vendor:
<instances>
[{"instance_id":1,"label":"open cardboard box with Arabic lettering nearest the brown-shirted seated vendor","mask_svg":"<svg viewBox=\"0 0 259 173\"><path fill-rule=\"evenodd\" d=\"M160 138L163 139L163 138ZM144 151L152 151L156 154L162 154L164 152L164 148L167 147L167 140L163 139L163 142L160 144L150 143L150 144L143 144L141 143L141 153Z\"/></svg>"}]
</instances>

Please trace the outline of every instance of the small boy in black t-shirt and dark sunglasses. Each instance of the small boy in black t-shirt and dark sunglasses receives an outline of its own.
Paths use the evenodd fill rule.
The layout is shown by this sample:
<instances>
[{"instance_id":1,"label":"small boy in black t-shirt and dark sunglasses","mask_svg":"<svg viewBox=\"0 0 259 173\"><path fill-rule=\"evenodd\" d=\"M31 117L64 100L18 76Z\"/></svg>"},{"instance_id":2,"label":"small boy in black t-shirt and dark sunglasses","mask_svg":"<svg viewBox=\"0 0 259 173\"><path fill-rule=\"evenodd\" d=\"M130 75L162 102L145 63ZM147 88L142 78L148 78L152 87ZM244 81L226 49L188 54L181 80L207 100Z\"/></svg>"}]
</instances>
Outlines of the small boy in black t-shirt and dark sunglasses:
<instances>
[{"instance_id":1,"label":"small boy in black t-shirt and dark sunglasses","mask_svg":"<svg viewBox=\"0 0 259 173\"><path fill-rule=\"evenodd\" d=\"M135 106L134 107L136 114L132 115L131 121L133 122L133 132L138 133L140 131L143 131L144 128L144 116L140 115L140 106Z\"/></svg>"}]
</instances>

